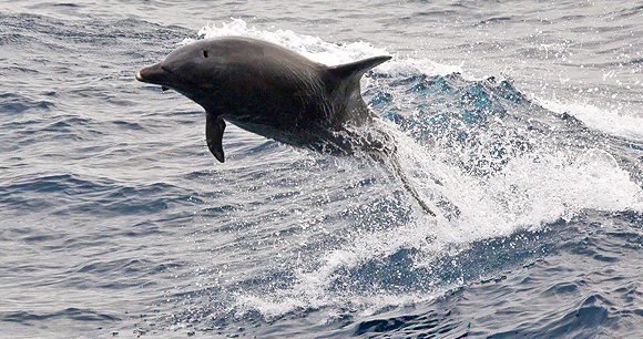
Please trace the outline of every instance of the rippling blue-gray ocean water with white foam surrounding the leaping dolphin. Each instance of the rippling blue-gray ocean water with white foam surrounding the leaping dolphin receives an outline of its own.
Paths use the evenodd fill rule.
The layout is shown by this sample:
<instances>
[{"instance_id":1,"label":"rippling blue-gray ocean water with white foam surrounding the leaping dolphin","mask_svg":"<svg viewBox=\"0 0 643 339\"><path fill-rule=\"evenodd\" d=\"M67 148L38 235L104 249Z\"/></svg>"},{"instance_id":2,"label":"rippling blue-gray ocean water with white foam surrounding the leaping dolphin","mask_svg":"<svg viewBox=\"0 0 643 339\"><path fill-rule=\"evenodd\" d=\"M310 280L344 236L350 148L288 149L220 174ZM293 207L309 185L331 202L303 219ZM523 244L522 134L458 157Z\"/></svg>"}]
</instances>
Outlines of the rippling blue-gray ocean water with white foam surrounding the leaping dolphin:
<instances>
[{"instance_id":1,"label":"rippling blue-gray ocean water with white foam surrounding the leaping dolphin","mask_svg":"<svg viewBox=\"0 0 643 339\"><path fill-rule=\"evenodd\" d=\"M339 64L436 212L135 81L192 40ZM640 338L643 6L0 1L0 337Z\"/></svg>"}]
</instances>

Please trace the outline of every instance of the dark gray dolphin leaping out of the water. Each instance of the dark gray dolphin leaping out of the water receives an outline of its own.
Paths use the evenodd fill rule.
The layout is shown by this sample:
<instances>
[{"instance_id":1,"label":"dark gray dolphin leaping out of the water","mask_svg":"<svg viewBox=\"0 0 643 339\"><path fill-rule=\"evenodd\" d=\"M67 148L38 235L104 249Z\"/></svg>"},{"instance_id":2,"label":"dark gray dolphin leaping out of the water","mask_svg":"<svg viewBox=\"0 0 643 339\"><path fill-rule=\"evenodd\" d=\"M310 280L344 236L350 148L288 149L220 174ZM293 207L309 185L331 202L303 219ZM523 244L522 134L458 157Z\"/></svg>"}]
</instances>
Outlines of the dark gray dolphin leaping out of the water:
<instances>
[{"instance_id":1,"label":"dark gray dolphin leaping out of the water","mask_svg":"<svg viewBox=\"0 0 643 339\"><path fill-rule=\"evenodd\" d=\"M223 37L184 45L139 71L136 80L173 89L203 106L207 147L222 163L225 121L320 153L364 151L389 164L405 188L435 216L399 167L392 137L368 129L379 117L361 99L359 80L389 59L326 66L274 43Z\"/></svg>"}]
</instances>

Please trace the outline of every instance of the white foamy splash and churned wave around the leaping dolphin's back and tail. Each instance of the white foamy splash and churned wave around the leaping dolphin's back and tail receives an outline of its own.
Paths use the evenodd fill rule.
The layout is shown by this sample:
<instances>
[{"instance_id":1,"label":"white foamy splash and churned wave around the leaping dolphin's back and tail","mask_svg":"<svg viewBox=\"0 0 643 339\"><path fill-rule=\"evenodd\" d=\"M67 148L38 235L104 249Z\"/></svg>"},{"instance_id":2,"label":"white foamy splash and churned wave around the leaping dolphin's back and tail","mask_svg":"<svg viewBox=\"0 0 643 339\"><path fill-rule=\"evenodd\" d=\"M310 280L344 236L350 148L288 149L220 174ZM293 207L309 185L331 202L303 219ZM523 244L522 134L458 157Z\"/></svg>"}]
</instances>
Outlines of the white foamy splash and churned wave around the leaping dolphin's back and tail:
<instances>
[{"instance_id":1,"label":"white foamy splash and churned wave around the leaping dolphin's back and tail","mask_svg":"<svg viewBox=\"0 0 643 339\"><path fill-rule=\"evenodd\" d=\"M326 64L388 54L367 42L335 44L287 30L258 30L241 19L208 24L198 34L257 38ZM367 74L363 85L372 110L389 120L384 124L399 143L400 166L438 217L409 207L410 198L400 203L399 183L377 186L395 202L392 212L368 209L380 215L368 223L381 225L358 227L359 220L340 219L341 242L319 246L308 246L319 236L316 227L302 226L309 236L297 239L304 245L279 251L297 259L272 268L292 278L269 292L264 286L235 290L232 309L271 319L297 309L367 315L414 305L497 274L471 268L477 256L498 250L487 242L510 239L508 251L522 247L535 256L540 245L530 234L557 220L585 209L643 210L641 186L600 135L589 135L507 81L471 80L460 72L457 65L396 58ZM580 119L591 125L588 116ZM643 135L635 126L621 132ZM387 218L396 222L381 222ZM325 222L324 216L315 220Z\"/></svg>"}]
</instances>

